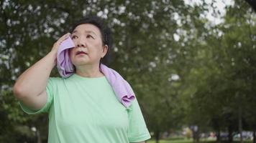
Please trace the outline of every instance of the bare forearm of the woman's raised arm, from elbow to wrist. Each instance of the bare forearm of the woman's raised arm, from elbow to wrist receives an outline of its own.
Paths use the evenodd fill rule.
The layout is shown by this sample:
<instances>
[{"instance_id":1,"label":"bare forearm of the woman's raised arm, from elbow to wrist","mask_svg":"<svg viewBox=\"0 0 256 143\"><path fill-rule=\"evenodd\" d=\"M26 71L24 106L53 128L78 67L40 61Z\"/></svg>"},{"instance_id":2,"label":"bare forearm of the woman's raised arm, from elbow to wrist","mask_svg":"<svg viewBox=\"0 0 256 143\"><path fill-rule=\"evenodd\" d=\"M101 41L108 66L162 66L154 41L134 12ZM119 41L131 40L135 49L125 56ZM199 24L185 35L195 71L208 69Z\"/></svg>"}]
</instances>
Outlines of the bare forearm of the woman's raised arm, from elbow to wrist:
<instances>
[{"instance_id":1,"label":"bare forearm of the woman's raised arm, from elbow to wrist","mask_svg":"<svg viewBox=\"0 0 256 143\"><path fill-rule=\"evenodd\" d=\"M50 51L36 64L24 71L14 84L14 94L17 97L37 96L45 90L47 79L56 64L56 54Z\"/></svg>"}]
</instances>

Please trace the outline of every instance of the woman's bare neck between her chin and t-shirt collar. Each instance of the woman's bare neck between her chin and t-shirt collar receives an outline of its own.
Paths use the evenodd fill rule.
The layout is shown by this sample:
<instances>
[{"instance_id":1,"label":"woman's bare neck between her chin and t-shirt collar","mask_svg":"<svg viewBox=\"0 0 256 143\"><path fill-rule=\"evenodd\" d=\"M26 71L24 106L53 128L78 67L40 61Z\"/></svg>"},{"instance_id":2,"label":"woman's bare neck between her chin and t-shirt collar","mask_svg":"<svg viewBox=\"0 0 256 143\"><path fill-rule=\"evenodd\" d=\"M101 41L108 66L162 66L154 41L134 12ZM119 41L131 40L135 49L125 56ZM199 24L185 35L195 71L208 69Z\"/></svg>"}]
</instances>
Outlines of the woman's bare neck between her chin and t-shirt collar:
<instances>
[{"instance_id":1,"label":"woman's bare neck between her chin and t-shirt collar","mask_svg":"<svg viewBox=\"0 0 256 143\"><path fill-rule=\"evenodd\" d=\"M81 77L103 77L104 74L99 70L99 65L76 66L76 74Z\"/></svg>"}]
</instances>

